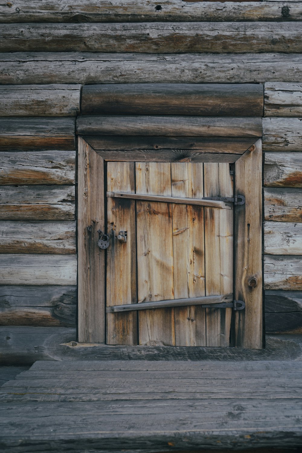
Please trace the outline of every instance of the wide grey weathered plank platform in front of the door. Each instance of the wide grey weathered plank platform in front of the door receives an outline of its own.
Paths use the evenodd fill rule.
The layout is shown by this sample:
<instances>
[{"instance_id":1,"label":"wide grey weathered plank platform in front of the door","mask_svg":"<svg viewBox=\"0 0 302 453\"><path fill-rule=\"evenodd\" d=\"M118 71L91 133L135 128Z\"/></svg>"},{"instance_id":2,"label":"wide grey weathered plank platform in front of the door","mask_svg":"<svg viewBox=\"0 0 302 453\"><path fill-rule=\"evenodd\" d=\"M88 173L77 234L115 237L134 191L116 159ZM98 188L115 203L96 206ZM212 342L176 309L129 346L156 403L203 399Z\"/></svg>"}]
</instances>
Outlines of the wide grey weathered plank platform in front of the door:
<instances>
[{"instance_id":1,"label":"wide grey weathered plank platform in front of the door","mask_svg":"<svg viewBox=\"0 0 302 453\"><path fill-rule=\"evenodd\" d=\"M302 444L301 371L302 361L37 361L0 389L0 451L290 451Z\"/></svg>"}]
</instances>

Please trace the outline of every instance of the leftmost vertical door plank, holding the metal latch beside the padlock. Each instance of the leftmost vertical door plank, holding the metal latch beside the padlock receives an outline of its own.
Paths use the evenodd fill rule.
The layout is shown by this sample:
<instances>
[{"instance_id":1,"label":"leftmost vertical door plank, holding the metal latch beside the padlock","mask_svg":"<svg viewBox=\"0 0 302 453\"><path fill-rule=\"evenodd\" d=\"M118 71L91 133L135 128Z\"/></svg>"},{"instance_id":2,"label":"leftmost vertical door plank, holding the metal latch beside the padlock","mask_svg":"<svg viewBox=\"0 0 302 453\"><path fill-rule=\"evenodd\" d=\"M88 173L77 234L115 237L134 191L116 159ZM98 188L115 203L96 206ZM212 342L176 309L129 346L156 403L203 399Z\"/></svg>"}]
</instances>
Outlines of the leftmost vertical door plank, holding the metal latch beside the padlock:
<instances>
[{"instance_id":1,"label":"leftmost vertical door plank, holding the metal latch beside the padlock","mask_svg":"<svg viewBox=\"0 0 302 453\"><path fill-rule=\"evenodd\" d=\"M107 190L135 193L134 162L107 163ZM127 231L127 242L116 239ZM136 303L135 201L107 198L107 306ZM137 313L107 313L107 344L137 344Z\"/></svg>"}]
</instances>

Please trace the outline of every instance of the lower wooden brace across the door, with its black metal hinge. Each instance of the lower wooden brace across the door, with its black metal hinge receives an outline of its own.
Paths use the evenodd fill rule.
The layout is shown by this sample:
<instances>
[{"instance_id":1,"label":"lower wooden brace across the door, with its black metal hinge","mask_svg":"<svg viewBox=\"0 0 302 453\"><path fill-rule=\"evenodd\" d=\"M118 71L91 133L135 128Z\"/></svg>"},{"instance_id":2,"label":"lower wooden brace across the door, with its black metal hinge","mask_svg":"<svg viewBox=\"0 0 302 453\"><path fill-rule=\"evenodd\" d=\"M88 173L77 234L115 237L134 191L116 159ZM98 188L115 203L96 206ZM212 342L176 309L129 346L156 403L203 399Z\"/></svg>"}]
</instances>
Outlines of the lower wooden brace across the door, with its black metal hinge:
<instances>
[{"instance_id":1,"label":"lower wooden brace across the door, with its black metal hinge","mask_svg":"<svg viewBox=\"0 0 302 453\"><path fill-rule=\"evenodd\" d=\"M142 302L140 304L112 305L106 308L106 313L150 310L153 308L185 307L187 305L199 305L202 308L233 308L234 310L243 310L245 307L242 300L233 299L233 294L223 294L185 299L157 300L155 302Z\"/></svg>"}]
</instances>

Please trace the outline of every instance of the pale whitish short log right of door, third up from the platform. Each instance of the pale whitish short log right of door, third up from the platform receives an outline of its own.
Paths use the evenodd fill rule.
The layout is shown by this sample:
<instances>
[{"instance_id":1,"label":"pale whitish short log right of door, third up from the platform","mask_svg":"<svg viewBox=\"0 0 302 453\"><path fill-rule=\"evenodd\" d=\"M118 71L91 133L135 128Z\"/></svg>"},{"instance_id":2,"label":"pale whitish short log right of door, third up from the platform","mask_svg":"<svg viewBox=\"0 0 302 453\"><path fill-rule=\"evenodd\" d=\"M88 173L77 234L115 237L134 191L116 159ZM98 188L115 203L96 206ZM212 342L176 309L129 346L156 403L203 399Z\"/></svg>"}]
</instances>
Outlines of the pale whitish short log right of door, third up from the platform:
<instances>
[{"instance_id":1,"label":"pale whitish short log right of door, third up from the platform","mask_svg":"<svg viewBox=\"0 0 302 453\"><path fill-rule=\"evenodd\" d=\"M264 253L302 255L302 223L264 222Z\"/></svg>"}]
</instances>

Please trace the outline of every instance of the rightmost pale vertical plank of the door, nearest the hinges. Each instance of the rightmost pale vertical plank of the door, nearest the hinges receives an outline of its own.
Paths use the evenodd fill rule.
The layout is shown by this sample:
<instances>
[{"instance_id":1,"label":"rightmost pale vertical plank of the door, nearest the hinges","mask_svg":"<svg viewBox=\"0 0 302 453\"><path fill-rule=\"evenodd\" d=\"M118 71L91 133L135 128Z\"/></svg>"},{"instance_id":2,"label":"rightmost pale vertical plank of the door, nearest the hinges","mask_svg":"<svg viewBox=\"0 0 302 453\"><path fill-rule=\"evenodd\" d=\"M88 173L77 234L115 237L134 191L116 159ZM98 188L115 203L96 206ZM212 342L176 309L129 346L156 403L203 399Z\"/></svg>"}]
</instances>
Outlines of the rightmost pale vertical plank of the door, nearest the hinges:
<instances>
[{"instance_id":1,"label":"rightmost pale vertical plank of the door, nearest the hinges","mask_svg":"<svg viewBox=\"0 0 302 453\"><path fill-rule=\"evenodd\" d=\"M205 197L231 196L229 164L204 164ZM205 208L205 294L226 294L233 284L233 211ZM226 290L228 289L228 290ZM206 309L206 345L228 347L230 310Z\"/></svg>"}]
</instances>

